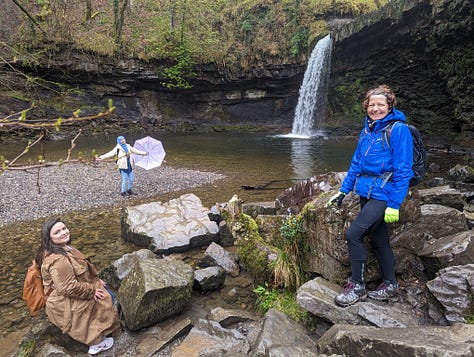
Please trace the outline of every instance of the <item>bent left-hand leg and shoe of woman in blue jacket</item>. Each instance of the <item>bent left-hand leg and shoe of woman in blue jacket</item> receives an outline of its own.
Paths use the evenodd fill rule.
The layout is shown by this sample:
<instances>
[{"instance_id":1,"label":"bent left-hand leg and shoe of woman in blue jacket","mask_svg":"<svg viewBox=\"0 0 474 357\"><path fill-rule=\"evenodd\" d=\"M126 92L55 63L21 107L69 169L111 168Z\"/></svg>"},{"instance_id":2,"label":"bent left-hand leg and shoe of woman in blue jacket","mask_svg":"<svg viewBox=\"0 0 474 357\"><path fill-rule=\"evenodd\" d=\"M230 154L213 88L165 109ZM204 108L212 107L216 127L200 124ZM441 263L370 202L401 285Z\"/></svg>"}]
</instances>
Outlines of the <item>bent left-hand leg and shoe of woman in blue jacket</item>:
<instances>
[{"instance_id":1,"label":"bent left-hand leg and shoe of woman in blue jacket","mask_svg":"<svg viewBox=\"0 0 474 357\"><path fill-rule=\"evenodd\" d=\"M346 232L352 274L349 284L336 297L336 303L341 306L355 304L367 296L364 282L367 249L364 244L364 237L374 226L383 221L386 202L361 197L360 205L359 214Z\"/></svg>"}]
</instances>

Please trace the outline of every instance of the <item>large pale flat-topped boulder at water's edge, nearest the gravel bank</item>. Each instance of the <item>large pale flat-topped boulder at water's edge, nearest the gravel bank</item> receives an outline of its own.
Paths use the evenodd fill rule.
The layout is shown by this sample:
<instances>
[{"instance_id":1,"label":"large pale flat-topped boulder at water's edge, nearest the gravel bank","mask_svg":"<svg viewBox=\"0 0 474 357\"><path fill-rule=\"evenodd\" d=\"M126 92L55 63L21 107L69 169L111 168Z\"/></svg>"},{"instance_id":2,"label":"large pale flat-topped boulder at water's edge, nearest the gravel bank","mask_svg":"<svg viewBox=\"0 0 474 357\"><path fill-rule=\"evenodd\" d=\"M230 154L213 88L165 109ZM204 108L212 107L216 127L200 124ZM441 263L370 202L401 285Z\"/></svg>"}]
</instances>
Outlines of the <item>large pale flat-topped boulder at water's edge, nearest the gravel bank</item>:
<instances>
[{"instance_id":1,"label":"large pale flat-topped boulder at water's edge, nearest the gravel bank","mask_svg":"<svg viewBox=\"0 0 474 357\"><path fill-rule=\"evenodd\" d=\"M126 207L122 212L122 236L155 253L182 252L219 241L217 223L194 194L167 203L151 202Z\"/></svg>"}]
</instances>

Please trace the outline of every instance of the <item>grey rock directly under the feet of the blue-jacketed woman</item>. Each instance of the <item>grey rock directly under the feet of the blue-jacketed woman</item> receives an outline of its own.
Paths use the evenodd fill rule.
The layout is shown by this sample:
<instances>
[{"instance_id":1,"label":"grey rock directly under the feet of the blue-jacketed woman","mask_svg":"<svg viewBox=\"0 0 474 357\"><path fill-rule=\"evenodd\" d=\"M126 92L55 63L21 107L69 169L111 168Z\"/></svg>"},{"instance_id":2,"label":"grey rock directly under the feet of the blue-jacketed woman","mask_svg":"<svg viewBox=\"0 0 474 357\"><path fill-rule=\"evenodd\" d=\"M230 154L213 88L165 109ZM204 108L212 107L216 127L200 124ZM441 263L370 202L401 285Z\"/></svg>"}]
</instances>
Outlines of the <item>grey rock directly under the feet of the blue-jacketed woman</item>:
<instances>
[{"instance_id":1,"label":"grey rock directly under the feet of the blue-jacketed woman","mask_svg":"<svg viewBox=\"0 0 474 357\"><path fill-rule=\"evenodd\" d=\"M416 326L414 316L407 314L399 303L383 304L367 300L348 307L340 307L334 298L342 288L323 278L315 278L298 289L296 302L305 310L334 324L375 325L378 327Z\"/></svg>"}]
</instances>

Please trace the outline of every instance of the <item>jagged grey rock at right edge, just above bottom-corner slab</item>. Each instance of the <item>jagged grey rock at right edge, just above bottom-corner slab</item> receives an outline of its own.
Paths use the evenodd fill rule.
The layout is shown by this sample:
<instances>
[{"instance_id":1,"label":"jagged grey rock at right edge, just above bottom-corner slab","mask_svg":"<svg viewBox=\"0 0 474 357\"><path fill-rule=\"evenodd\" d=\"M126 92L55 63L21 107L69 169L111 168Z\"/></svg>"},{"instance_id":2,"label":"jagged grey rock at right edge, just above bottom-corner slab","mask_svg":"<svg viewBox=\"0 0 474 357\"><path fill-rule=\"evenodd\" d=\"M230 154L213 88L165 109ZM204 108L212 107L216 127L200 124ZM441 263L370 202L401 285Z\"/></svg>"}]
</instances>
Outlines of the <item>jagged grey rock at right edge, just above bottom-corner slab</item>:
<instances>
[{"instance_id":1,"label":"jagged grey rock at right edge, just above bottom-corner slab","mask_svg":"<svg viewBox=\"0 0 474 357\"><path fill-rule=\"evenodd\" d=\"M443 305L448 321L464 322L474 294L474 264L444 268L436 275L426 283L428 289Z\"/></svg>"}]
</instances>

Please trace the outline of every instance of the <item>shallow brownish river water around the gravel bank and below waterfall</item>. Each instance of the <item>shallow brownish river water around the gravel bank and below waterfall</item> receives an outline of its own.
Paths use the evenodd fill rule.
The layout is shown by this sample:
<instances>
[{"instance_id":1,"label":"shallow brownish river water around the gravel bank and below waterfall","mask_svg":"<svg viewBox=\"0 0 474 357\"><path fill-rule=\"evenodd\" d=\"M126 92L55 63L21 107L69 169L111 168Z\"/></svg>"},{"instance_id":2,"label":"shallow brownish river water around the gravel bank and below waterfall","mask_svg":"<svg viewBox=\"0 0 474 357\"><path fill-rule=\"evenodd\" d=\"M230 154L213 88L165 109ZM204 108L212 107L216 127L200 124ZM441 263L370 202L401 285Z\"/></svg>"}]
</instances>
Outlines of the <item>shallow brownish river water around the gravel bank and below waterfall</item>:
<instances>
[{"instance_id":1,"label":"shallow brownish river water around the gravel bank and below waterfall","mask_svg":"<svg viewBox=\"0 0 474 357\"><path fill-rule=\"evenodd\" d=\"M144 136L123 134L131 144ZM224 180L189 191L200 197L208 208L216 202L227 202L234 194L246 202L273 201L280 192L300 180L328 171L345 171L356 144L355 139L299 139L263 133L147 135L162 141L167 153L166 165L226 176ZM105 134L81 136L74 152L90 156L95 149L104 153L114 146L115 139L115 135ZM69 146L67 140L47 142L44 147L47 161L65 158ZM0 154L12 159L23 147L22 143L0 144ZM36 157L39 153L34 149L29 155ZM175 192L159 200L176 198L183 193L188 192ZM138 249L121 239L120 208L81 211L62 217L71 229L74 245L90 256L99 269ZM38 247L42 223L43 220L39 220L1 227L0 343L31 323L21 290L26 268Z\"/></svg>"}]
</instances>

